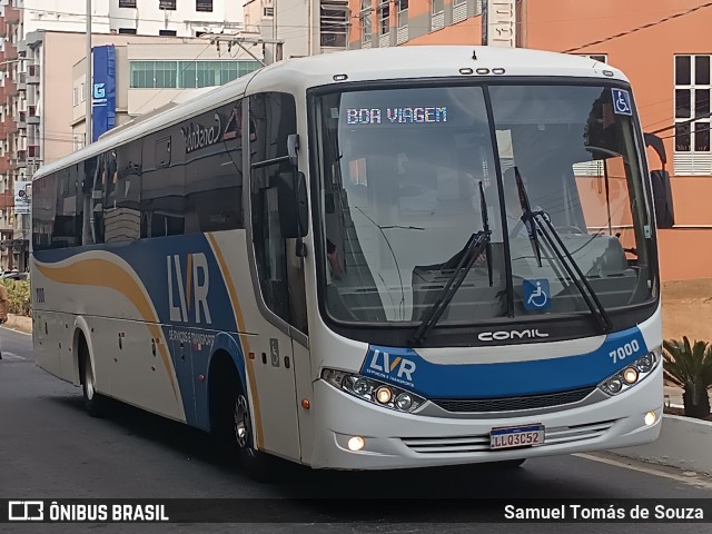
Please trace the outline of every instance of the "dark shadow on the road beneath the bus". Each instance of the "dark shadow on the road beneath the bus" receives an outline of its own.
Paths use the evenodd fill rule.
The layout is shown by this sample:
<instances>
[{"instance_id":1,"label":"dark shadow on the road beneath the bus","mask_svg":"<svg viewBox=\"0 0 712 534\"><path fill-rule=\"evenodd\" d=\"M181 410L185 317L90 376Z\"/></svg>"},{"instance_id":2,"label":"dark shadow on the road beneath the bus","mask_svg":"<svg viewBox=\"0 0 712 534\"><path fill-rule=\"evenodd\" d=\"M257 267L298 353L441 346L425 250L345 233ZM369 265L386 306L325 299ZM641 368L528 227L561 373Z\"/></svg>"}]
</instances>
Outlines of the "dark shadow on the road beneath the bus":
<instances>
[{"instance_id":1,"label":"dark shadow on the road beneath the bus","mask_svg":"<svg viewBox=\"0 0 712 534\"><path fill-rule=\"evenodd\" d=\"M81 396L56 396L53 400L72 411L83 412ZM199 462L217 476L233 478L236 486L247 479L239 463L227 458L212 436L199 429L116 400L109 403L107 416L97 422L113 426L125 435L175 451L190 458L191 463ZM456 514L461 506L472 507L469 500L610 497L605 487L591 483L574 485L572 481L547 476L537 467L538 462L543 461L530 459L522 467L514 468L494 463L353 472L312 469L275 458L276 476L261 486L275 497L298 501L314 507L315 513L320 511L327 515L329 511L339 511L340 501L350 503L364 498L374 502L408 500L405 506L413 507L413 514L422 513L423 504L418 501L438 500L439 510ZM452 502L443 504L445 500ZM377 510L370 506L372 511Z\"/></svg>"}]
</instances>

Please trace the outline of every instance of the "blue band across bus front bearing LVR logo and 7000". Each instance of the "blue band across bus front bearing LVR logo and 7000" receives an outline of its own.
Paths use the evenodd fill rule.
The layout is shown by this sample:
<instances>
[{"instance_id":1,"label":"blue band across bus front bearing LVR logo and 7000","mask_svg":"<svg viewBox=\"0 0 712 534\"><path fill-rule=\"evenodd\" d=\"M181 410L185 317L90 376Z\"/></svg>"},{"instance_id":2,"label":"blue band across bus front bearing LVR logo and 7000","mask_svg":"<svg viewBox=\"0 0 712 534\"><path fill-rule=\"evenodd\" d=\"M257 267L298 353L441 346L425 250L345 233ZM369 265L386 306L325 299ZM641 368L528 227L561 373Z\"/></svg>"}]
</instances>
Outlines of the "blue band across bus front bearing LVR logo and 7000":
<instances>
[{"instance_id":1,"label":"blue band across bus front bearing LVR logo and 7000","mask_svg":"<svg viewBox=\"0 0 712 534\"><path fill-rule=\"evenodd\" d=\"M623 359L611 356L619 348ZM532 344L530 349L534 354L546 346ZM434 364L412 348L372 345L360 373L426 398L495 398L595 386L647 352L637 327L610 334L587 354L496 364L474 357L472 364Z\"/></svg>"}]
</instances>

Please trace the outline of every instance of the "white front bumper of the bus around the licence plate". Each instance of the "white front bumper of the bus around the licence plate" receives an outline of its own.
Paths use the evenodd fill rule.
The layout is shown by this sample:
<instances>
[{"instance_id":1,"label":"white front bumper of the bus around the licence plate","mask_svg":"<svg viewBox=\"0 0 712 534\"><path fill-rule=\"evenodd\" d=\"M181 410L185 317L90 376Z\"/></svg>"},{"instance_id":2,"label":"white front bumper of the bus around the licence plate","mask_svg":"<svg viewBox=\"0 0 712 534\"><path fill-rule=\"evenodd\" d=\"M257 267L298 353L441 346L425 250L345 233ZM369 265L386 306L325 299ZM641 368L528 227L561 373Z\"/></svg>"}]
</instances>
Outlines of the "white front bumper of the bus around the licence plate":
<instances>
[{"instance_id":1,"label":"white front bumper of the bus around the licence plate","mask_svg":"<svg viewBox=\"0 0 712 534\"><path fill-rule=\"evenodd\" d=\"M605 400L546 414L497 418L445 418L404 414L357 399L324 380L315 383L318 428L315 468L390 469L500 462L641 445L657 439L663 412L662 365L630 390ZM645 424L654 412L655 423ZM544 444L490 448L494 427L544 425ZM348 447L352 437L364 447Z\"/></svg>"}]
</instances>

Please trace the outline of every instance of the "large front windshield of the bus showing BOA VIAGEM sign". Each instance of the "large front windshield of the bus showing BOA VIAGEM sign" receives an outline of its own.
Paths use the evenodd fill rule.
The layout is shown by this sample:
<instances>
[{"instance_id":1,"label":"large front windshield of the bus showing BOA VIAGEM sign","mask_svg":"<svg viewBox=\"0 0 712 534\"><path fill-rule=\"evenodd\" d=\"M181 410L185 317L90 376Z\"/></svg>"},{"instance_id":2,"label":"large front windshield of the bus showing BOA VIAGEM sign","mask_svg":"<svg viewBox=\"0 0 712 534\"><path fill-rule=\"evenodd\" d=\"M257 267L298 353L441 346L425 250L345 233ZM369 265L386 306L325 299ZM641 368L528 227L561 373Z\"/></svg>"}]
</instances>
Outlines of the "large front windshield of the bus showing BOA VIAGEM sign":
<instances>
[{"instance_id":1,"label":"large front windshield of the bus showing BOA VIAGEM sign","mask_svg":"<svg viewBox=\"0 0 712 534\"><path fill-rule=\"evenodd\" d=\"M524 194L604 313L650 301L652 217L630 91L593 83L319 96L328 315L417 325L483 229L483 205L490 258L481 255L468 270L439 326L592 313L561 255L523 220Z\"/></svg>"}]
</instances>

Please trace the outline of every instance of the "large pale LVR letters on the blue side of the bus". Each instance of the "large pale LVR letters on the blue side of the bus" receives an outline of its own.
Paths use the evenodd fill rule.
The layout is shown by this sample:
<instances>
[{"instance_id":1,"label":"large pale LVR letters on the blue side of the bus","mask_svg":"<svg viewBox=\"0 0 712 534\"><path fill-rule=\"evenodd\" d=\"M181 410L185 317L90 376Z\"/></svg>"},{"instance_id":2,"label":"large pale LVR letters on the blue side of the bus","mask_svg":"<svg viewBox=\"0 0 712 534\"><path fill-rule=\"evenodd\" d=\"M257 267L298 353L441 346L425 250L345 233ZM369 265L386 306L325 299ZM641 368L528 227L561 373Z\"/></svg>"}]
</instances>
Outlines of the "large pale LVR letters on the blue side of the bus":
<instances>
[{"instance_id":1,"label":"large pale LVR letters on the blue side of the bus","mask_svg":"<svg viewBox=\"0 0 712 534\"><path fill-rule=\"evenodd\" d=\"M186 263L186 274L180 261L180 255L166 257L168 273L168 308L172 323L187 323L190 320L188 312L195 307L196 323L200 323L200 308L205 322L209 325L210 309L208 308L208 259L202 253L189 254ZM175 286L175 287L174 287ZM176 293L178 303L176 304Z\"/></svg>"}]
</instances>

